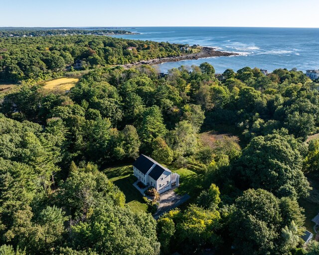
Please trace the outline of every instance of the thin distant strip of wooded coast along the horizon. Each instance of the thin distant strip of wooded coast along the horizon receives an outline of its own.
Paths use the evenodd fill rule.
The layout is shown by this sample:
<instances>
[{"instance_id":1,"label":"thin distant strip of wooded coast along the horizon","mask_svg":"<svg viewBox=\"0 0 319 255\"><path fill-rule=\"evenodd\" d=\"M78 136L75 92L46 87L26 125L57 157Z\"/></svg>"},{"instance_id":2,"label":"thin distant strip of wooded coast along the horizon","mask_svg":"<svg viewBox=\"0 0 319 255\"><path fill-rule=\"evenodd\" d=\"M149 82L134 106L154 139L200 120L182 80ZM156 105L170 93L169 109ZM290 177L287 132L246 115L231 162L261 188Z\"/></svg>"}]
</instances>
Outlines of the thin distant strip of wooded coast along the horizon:
<instances>
[{"instance_id":1,"label":"thin distant strip of wooded coast along the horizon","mask_svg":"<svg viewBox=\"0 0 319 255\"><path fill-rule=\"evenodd\" d=\"M108 34L131 34L126 30L113 29L0 29L0 37L22 37L22 36L52 36L52 35L108 35Z\"/></svg>"}]
</instances>

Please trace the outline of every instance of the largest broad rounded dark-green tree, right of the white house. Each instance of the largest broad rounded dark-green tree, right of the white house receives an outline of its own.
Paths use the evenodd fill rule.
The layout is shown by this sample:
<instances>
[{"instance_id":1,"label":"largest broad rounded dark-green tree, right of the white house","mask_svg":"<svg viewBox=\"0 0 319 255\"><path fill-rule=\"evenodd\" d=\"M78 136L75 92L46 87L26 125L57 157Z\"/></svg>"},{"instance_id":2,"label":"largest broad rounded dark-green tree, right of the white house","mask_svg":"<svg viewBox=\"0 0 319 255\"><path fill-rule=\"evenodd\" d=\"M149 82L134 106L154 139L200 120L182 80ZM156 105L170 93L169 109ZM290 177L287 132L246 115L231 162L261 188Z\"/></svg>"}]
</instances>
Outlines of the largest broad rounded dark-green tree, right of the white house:
<instances>
[{"instance_id":1,"label":"largest broad rounded dark-green tree, right of the white house","mask_svg":"<svg viewBox=\"0 0 319 255\"><path fill-rule=\"evenodd\" d=\"M310 187L302 172L303 150L285 131L257 136L243 150L239 169L253 188L278 196L307 196Z\"/></svg>"}]
</instances>

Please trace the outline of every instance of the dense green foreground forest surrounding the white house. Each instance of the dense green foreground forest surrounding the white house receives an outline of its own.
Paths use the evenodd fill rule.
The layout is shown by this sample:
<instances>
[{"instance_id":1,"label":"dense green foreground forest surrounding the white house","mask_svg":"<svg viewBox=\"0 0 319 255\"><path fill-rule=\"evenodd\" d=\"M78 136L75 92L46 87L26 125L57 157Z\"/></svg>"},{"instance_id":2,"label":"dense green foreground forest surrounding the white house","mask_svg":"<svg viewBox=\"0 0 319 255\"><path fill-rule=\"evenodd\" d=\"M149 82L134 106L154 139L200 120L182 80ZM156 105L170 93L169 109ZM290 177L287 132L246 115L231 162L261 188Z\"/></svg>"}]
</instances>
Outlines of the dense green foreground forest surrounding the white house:
<instances>
[{"instance_id":1,"label":"dense green foreground forest surrounding the white house","mask_svg":"<svg viewBox=\"0 0 319 255\"><path fill-rule=\"evenodd\" d=\"M312 255L304 210L318 174L319 92L302 72L208 63L96 69L69 93L40 85L0 111L0 251L8 254ZM235 137L211 142L202 131ZM187 208L133 213L98 169L140 154L189 167L200 187ZM181 179L181 182L183 180ZM234 250L231 249L234 248Z\"/></svg>"}]
</instances>

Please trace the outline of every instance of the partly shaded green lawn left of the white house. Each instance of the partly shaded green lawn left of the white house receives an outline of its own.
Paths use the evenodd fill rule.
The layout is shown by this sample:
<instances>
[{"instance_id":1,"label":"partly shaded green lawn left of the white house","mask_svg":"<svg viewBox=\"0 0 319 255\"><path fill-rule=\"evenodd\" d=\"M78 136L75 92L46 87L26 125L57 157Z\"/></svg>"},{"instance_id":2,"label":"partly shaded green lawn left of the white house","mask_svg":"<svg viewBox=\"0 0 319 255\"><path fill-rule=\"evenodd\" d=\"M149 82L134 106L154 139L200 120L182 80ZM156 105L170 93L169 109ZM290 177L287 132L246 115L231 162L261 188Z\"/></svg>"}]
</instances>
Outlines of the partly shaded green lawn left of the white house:
<instances>
[{"instance_id":1,"label":"partly shaded green lawn left of the white house","mask_svg":"<svg viewBox=\"0 0 319 255\"><path fill-rule=\"evenodd\" d=\"M127 205L134 212L147 212L148 205L144 202L142 194L129 181L129 176L133 173L132 165L110 167L103 172L124 193Z\"/></svg>"}]
</instances>

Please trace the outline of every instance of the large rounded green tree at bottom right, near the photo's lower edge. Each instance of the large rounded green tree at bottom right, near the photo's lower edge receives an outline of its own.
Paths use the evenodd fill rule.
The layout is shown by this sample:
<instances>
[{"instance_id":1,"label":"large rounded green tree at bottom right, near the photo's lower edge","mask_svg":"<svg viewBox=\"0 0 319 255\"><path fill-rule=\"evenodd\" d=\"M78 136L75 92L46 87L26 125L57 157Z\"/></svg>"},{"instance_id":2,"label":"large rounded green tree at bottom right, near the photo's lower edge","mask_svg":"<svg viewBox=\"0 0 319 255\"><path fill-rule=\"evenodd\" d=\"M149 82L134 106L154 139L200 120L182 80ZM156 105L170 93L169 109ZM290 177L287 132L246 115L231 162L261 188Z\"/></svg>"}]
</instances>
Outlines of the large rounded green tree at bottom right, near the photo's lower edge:
<instances>
[{"instance_id":1,"label":"large rounded green tree at bottom right, near the photo's lower edge","mask_svg":"<svg viewBox=\"0 0 319 255\"><path fill-rule=\"evenodd\" d=\"M230 231L239 254L288 254L300 240L294 218L281 209L282 201L262 189L247 190L236 199ZM298 205L293 210L301 210ZM283 217L288 225L284 225ZM299 224L303 224L301 219Z\"/></svg>"}]
</instances>

